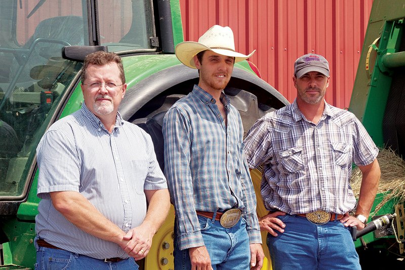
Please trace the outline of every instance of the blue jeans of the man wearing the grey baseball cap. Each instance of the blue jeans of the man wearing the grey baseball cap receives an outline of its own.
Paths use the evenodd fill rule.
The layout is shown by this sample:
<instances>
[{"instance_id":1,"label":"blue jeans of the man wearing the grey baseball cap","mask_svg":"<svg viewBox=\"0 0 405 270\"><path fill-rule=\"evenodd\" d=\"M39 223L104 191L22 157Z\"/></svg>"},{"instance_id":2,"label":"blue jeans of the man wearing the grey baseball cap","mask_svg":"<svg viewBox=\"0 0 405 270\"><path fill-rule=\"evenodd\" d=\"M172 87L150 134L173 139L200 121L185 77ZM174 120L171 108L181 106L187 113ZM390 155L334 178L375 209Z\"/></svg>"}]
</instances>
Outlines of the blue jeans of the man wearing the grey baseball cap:
<instances>
[{"instance_id":1,"label":"blue jeans of the man wearing the grey baseball cap","mask_svg":"<svg viewBox=\"0 0 405 270\"><path fill-rule=\"evenodd\" d=\"M340 221L315 225L296 215L278 218L286 224L285 232L267 235L274 270L361 269L349 228Z\"/></svg>"}]
</instances>

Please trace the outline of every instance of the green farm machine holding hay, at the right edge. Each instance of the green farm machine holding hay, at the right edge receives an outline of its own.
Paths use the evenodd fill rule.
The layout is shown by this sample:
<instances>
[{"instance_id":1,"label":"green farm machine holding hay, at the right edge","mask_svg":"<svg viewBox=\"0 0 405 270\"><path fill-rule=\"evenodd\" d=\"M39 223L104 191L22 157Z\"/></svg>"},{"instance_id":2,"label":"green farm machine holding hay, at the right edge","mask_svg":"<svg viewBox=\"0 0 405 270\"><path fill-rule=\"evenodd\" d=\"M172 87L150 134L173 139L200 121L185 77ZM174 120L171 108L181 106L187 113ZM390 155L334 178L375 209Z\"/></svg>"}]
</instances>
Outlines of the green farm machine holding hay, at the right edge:
<instances>
[{"instance_id":1,"label":"green farm machine holding hay, at the right edge","mask_svg":"<svg viewBox=\"0 0 405 270\"><path fill-rule=\"evenodd\" d=\"M381 157L381 160L379 155L380 193L369 221L386 214L396 216L386 225L384 220L377 220L377 230L355 242L365 269L388 265L403 269L405 266L405 170L395 169L403 166L400 158L405 159L404 74L405 1L375 0L349 110L383 149L380 154L388 148L394 153L393 158ZM394 175L385 179L386 174Z\"/></svg>"}]
</instances>

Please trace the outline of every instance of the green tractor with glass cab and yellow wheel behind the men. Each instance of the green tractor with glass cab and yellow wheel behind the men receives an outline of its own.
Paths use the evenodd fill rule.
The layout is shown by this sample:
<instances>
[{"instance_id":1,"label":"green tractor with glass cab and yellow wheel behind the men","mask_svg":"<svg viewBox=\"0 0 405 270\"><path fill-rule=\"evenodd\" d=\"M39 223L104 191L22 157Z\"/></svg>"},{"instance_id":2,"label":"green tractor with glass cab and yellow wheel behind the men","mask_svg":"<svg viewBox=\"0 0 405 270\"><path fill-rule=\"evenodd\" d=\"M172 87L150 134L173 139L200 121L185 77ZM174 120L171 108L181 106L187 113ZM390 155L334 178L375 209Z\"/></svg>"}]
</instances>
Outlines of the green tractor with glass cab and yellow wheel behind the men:
<instances>
[{"instance_id":1,"label":"green tractor with glass cab and yellow wheel behind the men","mask_svg":"<svg viewBox=\"0 0 405 270\"><path fill-rule=\"evenodd\" d=\"M119 111L151 135L162 167L164 114L198 73L174 55L183 41L179 0L3 0L0 25L0 269L30 269L39 202L35 148L50 125L83 103L84 57L108 50L123 58L128 89ZM235 65L225 92L245 131L288 104L247 61ZM259 194L261 173L253 175ZM265 214L260 200L258 213ZM172 209L142 269L174 268L173 224Z\"/></svg>"}]
</instances>

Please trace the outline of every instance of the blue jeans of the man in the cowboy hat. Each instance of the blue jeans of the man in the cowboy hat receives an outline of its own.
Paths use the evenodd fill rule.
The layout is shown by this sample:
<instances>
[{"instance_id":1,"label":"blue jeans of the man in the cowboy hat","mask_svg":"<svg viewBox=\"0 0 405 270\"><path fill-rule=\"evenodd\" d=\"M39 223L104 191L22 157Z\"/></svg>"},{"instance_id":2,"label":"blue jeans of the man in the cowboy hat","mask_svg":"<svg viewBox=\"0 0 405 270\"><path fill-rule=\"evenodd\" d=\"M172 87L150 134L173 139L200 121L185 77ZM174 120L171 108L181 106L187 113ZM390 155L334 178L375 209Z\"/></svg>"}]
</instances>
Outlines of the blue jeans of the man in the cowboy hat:
<instances>
[{"instance_id":1,"label":"blue jeans of the man in the cowboy hat","mask_svg":"<svg viewBox=\"0 0 405 270\"><path fill-rule=\"evenodd\" d=\"M250 269L250 244L244 218L240 218L231 228L224 228L218 220L202 216L198 216L198 221L214 270ZM191 261L188 249L179 250L176 239L175 235L174 268L189 270Z\"/></svg>"}]
</instances>

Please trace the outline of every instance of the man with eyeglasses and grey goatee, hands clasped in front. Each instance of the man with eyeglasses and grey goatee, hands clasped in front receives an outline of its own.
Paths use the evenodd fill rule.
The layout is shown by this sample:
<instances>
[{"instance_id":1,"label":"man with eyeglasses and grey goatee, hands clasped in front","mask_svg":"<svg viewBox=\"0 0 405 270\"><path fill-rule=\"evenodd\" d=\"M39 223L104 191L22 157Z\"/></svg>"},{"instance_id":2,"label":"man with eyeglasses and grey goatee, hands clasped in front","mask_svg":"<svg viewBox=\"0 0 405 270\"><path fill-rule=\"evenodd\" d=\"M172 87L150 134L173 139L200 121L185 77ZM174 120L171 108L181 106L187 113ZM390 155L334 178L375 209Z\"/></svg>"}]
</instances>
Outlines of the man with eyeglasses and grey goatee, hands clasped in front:
<instances>
[{"instance_id":1,"label":"man with eyeglasses and grey goatee, hands clasped in front","mask_svg":"<svg viewBox=\"0 0 405 270\"><path fill-rule=\"evenodd\" d=\"M169 212L150 136L117 111L126 89L118 55L88 55L82 108L38 144L38 269L138 269Z\"/></svg>"}]
</instances>

